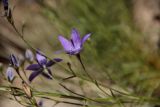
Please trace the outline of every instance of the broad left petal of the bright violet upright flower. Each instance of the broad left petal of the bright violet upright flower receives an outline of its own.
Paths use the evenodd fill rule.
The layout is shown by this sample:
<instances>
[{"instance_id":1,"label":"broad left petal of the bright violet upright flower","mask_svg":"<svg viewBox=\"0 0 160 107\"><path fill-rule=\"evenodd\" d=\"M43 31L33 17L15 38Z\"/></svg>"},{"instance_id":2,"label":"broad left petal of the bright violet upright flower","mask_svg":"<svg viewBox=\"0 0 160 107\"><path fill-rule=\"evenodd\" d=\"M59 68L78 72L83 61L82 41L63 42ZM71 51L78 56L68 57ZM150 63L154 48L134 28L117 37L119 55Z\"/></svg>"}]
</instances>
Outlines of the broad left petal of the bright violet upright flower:
<instances>
[{"instance_id":1,"label":"broad left petal of the bright violet upright flower","mask_svg":"<svg viewBox=\"0 0 160 107\"><path fill-rule=\"evenodd\" d=\"M67 53L70 53L73 50L72 43L68 41L66 38L64 38L63 36L59 36L58 39Z\"/></svg>"}]
</instances>

